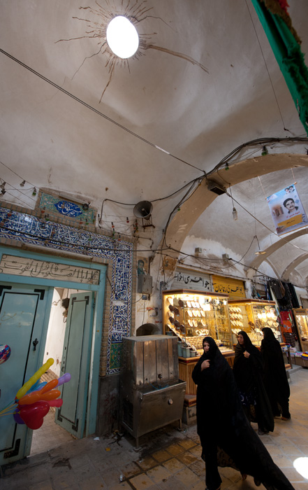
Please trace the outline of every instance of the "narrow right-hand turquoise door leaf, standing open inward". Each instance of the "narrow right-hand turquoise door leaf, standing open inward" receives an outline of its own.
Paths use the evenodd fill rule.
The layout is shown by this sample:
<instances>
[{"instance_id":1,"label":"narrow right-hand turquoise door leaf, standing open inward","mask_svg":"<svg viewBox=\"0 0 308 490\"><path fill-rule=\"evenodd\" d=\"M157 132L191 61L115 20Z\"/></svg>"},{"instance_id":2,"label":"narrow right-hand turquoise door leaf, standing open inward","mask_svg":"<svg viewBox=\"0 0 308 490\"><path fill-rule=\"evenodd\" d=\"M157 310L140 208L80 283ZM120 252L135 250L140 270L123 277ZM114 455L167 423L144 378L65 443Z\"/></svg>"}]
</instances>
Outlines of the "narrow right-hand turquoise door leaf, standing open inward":
<instances>
[{"instance_id":1,"label":"narrow right-hand turquoise door leaf, standing open inward","mask_svg":"<svg viewBox=\"0 0 308 490\"><path fill-rule=\"evenodd\" d=\"M61 374L69 372L71 381L60 387L63 405L55 421L78 438L84 435L87 414L93 311L94 293L71 295L61 361Z\"/></svg>"}]
</instances>

